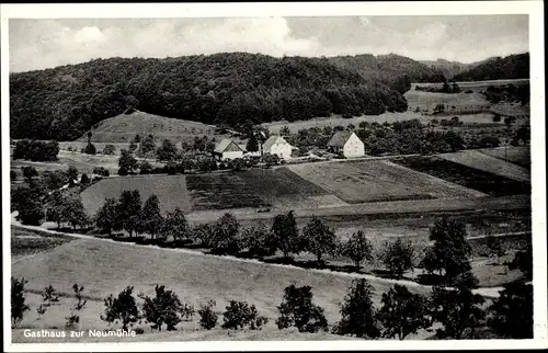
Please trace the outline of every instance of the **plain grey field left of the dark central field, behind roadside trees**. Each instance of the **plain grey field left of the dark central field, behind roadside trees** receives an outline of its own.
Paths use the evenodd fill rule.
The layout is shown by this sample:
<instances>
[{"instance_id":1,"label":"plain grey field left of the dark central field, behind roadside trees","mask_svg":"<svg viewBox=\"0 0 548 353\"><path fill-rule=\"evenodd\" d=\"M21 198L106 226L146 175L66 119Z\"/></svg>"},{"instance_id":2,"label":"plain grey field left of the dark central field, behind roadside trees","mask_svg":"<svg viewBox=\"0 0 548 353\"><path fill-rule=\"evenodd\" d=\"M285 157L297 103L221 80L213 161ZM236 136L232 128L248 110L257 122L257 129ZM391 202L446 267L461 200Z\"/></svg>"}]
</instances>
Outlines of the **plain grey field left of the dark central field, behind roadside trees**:
<instances>
[{"instance_id":1,"label":"plain grey field left of the dark central field, behind roadside trees","mask_svg":"<svg viewBox=\"0 0 548 353\"><path fill-rule=\"evenodd\" d=\"M151 194L157 194L162 213L175 207L183 212L191 209L184 175L134 175L103 179L85 189L82 203L87 212L93 215L106 197L119 197L124 190L138 190L142 202Z\"/></svg>"}]
</instances>

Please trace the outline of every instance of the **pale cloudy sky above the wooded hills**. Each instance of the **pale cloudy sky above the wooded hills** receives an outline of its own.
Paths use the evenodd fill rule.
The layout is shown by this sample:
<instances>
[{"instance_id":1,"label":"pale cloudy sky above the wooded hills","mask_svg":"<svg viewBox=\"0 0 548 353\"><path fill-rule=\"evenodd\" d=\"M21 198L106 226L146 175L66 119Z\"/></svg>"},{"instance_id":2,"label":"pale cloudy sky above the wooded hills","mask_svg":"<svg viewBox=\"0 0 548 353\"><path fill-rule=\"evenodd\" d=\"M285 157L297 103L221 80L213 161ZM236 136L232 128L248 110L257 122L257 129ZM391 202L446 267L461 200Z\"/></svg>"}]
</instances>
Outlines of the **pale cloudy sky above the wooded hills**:
<instances>
[{"instance_id":1,"label":"pale cloudy sky above the wooded hills","mask_svg":"<svg viewBox=\"0 0 548 353\"><path fill-rule=\"evenodd\" d=\"M528 52L528 16L10 19L10 71L110 57L221 52L286 56L399 54L473 62Z\"/></svg>"}]
</instances>

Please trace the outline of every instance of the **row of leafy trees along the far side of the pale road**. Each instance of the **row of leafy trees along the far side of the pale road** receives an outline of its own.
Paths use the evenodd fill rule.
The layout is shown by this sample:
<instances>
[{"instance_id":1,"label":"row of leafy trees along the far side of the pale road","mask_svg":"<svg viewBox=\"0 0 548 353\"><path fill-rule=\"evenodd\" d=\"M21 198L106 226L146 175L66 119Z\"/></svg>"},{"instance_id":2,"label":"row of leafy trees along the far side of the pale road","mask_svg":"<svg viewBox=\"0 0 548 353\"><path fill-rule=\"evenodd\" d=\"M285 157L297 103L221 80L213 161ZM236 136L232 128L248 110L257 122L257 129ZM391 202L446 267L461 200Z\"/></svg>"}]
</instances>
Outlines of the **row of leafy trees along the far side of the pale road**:
<instances>
[{"instance_id":1,"label":"row of leafy trees along the far side of the pale road","mask_svg":"<svg viewBox=\"0 0 548 353\"><path fill-rule=\"evenodd\" d=\"M299 230L293 212L276 215L270 229L263 223L241 227L230 213L215 224L191 227L179 208L163 216L156 195L149 196L141 206L138 191L124 191L117 201L107 198L94 220L95 226L106 234L113 230L125 230L130 236L148 234L159 242L173 241L179 246L193 243L209 248L217 254L262 259L279 251L285 259L289 259L292 254L307 252L313 254L320 265L324 264L324 255L345 257L353 261L356 269L364 261L374 260L373 246L363 231L356 231L347 241L341 242L334 230L318 217L312 217ZM415 263L412 243L401 238L387 243L379 260L397 278L419 265L430 274L437 274L439 282L445 285L478 285L471 273L471 247L463 223L439 218L431 228L430 240L433 246L419 263Z\"/></svg>"}]
</instances>

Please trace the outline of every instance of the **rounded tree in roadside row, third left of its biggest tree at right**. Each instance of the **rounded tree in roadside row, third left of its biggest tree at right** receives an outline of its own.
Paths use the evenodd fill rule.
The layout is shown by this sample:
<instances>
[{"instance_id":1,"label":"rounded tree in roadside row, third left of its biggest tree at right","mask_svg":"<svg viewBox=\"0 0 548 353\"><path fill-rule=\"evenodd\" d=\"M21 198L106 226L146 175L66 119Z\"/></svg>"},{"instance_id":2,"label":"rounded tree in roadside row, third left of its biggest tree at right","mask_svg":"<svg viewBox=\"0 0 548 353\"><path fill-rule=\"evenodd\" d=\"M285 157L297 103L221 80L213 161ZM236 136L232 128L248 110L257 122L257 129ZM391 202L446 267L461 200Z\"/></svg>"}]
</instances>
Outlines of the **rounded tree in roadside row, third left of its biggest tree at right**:
<instances>
[{"instance_id":1,"label":"rounded tree in roadside row, third left of its biggest tree at right","mask_svg":"<svg viewBox=\"0 0 548 353\"><path fill-rule=\"evenodd\" d=\"M301 241L304 249L313 253L318 263L324 253L334 254L336 251L335 232L316 216L302 229Z\"/></svg>"}]
</instances>

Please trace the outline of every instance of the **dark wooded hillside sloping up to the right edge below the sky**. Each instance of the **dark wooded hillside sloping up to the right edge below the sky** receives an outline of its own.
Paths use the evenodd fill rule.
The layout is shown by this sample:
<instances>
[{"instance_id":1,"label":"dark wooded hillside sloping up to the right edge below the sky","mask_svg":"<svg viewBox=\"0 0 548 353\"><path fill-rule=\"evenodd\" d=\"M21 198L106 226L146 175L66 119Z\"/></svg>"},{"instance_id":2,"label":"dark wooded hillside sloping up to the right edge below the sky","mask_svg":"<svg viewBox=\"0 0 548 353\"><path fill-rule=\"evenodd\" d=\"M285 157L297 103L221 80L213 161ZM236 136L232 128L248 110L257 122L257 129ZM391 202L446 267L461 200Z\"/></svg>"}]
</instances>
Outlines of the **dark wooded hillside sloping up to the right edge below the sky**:
<instances>
[{"instance_id":1,"label":"dark wooded hillside sloping up to the right edge below the sky","mask_svg":"<svg viewBox=\"0 0 548 353\"><path fill-rule=\"evenodd\" d=\"M529 53L495 57L457 73L456 81L484 81L529 78Z\"/></svg>"}]
</instances>

